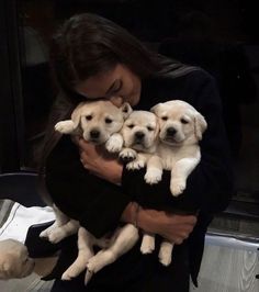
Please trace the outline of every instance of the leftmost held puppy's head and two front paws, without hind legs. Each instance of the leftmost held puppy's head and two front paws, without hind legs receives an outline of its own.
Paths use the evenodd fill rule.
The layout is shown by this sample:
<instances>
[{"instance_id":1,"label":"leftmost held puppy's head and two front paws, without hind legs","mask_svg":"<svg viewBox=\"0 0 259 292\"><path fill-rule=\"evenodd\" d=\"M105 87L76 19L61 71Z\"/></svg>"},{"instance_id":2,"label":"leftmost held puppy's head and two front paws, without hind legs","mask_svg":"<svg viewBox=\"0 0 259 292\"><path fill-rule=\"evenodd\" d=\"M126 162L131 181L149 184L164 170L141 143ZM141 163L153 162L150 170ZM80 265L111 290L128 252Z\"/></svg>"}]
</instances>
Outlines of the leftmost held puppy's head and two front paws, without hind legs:
<instances>
[{"instance_id":1,"label":"leftmost held puppy's head and two front paws, without hind legs","mask_svg":"<svg viewBox=\"0 0 259 292\"><path fill-rule=\"evenodd\" d=\"M105 100L81 102L72 112L71 120L58 122L55 130L63 134L80 135L95 145L104 144L110 153L117 153L122 148L119 132L131 112L127 102L121 108Z\"/></svg>"}]
</instances>

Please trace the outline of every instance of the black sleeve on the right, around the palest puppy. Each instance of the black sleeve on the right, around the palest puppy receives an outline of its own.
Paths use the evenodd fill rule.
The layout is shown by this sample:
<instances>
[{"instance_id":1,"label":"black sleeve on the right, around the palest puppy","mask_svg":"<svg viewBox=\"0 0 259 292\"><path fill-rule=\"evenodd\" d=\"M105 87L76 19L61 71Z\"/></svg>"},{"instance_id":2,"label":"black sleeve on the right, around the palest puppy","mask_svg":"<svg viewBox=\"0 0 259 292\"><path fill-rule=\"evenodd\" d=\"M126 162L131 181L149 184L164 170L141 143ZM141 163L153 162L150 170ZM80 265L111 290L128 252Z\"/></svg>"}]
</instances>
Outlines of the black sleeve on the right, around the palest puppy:
<instances>
[{"instance_id":1,"label":"black sleeve on the right, around the palest puppy","mask_svg":"<svg viewBox=\"0 0 259 292\"><path fill-rule=\"evenodd\" d=\"M158 184L148 186L143 179L145 169L130 171L124 167L122 186L144 206L165 209L165 205L173 205L185 211L202 210L214 213L225 210L229 203L233 170L221 100L214 79L207 74L198 75L194 85L191 99L187 101L204 115L209 125L201 142L201 161L189 176L187 189L177 199L170 193L169 171L164 171L162 180Z\"/></svg>"}]
</instances>

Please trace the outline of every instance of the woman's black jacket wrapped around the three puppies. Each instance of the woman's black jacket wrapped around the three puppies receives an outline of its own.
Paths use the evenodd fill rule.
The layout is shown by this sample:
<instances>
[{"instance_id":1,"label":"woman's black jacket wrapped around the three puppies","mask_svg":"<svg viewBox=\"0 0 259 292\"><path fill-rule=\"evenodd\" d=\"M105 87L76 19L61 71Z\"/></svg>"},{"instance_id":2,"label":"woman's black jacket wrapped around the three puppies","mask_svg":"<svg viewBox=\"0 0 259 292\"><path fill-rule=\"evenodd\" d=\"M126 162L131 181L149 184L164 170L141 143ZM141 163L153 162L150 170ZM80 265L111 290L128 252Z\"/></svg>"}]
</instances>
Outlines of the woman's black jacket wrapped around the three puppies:
<instances>
[{"instance_id":1,"label":"woman's black jacket wrapped around the three puppies","mask_svg":"<svg viewBox=\"0 0 259 292\"><path fill-rule=\"evenodd\" d=\"M189 176L187 189L179 198L172 198L170 193L169 171L165 171L162 181L156 186L145 183L145 169L128 171L124 168L121 187L90 175L83 169L78 148L69 136L59 141L47 159L46 186L57 206L70 217L79 220L97 237L117 226L123 210L131 201L157 210L199 210L198 224L187 240L190 270L193 282L196 283L206 227L213 214L226 209L230 199L232 167L221 99L214 79L195 67L179 68L149 78L143 81L140 102L136 109L149 110L158 102L172 99L191 103L204 115L209 125L201 142L201 162ZM134 249L136 248L139 247ZM69 266L72 260L67 258L65 266ZM135 259L139 261L139 257ZM132 265L136 267L136 262L133 262L132 260ZM123 262L120 265L117 271L116 262L111 265L114 272L119 272ZM131 261L125 259L125 265L131 266ZM60 273L61 268L56 270Z\"/></svg>"}]
</instances>

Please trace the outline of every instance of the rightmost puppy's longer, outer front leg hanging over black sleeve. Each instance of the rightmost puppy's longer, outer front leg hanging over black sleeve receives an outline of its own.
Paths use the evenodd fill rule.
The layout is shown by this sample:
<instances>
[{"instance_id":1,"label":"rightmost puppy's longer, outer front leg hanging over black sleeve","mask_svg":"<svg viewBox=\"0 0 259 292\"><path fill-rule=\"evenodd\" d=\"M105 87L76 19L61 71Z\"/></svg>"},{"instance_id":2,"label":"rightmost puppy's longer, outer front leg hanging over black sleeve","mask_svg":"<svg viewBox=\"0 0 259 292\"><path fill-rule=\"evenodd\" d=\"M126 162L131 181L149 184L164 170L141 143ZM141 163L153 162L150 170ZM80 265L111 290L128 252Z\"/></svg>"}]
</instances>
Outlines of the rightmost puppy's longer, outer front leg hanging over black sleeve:
<instances>
[{"instance_id":1,"label":"rightmost puppy's longer, outer front leg hanging over black sleeve","mask_svg":"<svg viewBox=\"0 0 259 292\"><path fill-rule=\"evenodd\" d=\"M196 167L200 159L182 158L176 162L171 170L170 190L172 195L178 196L187 187L187 178Z\"/></svg>"}]
</instances>

